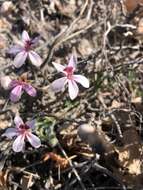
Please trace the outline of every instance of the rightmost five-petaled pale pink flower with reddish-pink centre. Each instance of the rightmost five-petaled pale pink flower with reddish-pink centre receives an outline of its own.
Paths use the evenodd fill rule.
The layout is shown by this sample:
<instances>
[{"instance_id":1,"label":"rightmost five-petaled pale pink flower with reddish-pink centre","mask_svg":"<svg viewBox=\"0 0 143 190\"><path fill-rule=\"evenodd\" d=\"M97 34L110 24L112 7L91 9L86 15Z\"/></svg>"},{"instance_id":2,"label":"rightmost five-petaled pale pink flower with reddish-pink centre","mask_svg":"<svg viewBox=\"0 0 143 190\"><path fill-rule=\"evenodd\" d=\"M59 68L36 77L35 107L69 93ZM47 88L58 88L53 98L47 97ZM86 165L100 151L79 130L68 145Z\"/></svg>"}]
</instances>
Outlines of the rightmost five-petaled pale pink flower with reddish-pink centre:
<instances>
[{"instance_id":1,"label":"rightmost five-petaled pale pink flower with reddish-pink centre","mask_svg":"<svg viewBox=\"0 0 143 190\"><path fill-rule=\"evenodd\" d=\"M80 83L83 87L89 88L89 80L82 75L75 75L74 71L76 69L77 59L74 55L71 56L68 66L63 66L58 63L53 63L54 67L62 72L65 76L55 80L52 83L52 88L55 92L61 91L64 86L68 83L69 96L73 100L77 97L79 88L77 83Z\"/></svg>"}]
</instances>

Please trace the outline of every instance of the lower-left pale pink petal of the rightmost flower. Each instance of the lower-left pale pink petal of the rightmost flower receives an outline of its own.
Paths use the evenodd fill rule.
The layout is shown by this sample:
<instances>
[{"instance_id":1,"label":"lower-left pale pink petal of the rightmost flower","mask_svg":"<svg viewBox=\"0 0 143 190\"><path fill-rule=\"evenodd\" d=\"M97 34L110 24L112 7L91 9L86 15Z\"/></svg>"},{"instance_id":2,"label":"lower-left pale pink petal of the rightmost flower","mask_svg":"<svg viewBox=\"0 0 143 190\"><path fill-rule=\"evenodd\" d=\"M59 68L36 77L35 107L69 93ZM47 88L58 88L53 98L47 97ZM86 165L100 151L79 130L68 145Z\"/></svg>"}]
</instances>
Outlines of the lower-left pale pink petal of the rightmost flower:
<instances>
[{"instance_id":1,"label":"lower-left pale pink petal of the rightmost flower","mask_svg":"<svg viewBox=\"0 0 143 190\"><path fill-rule=\"evenodd\" d=\"M55 80L52 82L51 87L55 92L59 92L64 88L64 85L67 83L67 78L62 77L60 79Z\"/></svg>"}]
</instances>

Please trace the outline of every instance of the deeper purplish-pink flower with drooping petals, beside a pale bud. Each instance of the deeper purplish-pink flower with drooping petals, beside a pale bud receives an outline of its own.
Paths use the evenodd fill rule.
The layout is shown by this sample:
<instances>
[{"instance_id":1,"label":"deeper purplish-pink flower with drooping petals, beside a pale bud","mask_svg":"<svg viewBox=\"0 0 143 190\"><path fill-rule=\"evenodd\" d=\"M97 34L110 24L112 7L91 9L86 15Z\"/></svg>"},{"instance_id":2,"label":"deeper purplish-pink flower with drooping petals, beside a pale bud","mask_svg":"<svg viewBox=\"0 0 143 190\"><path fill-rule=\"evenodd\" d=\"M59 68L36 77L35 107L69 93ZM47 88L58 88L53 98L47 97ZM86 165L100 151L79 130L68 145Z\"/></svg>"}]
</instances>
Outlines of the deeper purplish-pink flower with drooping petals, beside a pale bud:
<instances>
[{"instance_id":1,"label":"deeper purplish-pink flower with drooping petals, beside a pale bud","mask_svg":"<svg viewBox=\"0 0 143 190\"><path fill-rule=\"evenodd\" d=\"M21 98L23 91L32 97L35 97L37 92L34 87L22 80L12 80L9 88L12 89L10 93L10 100L12 102L17 102Z\"/></svg>"}]
</instances>

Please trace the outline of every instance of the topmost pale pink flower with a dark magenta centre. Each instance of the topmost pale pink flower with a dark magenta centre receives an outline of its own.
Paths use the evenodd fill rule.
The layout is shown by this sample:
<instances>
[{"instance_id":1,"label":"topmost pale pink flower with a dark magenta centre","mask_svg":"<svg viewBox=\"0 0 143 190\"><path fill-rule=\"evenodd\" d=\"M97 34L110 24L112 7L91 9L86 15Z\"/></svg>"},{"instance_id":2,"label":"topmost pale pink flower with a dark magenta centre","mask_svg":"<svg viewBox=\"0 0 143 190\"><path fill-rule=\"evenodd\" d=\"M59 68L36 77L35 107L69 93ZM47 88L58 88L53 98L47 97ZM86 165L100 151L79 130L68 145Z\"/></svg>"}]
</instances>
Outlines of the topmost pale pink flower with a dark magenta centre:
<instances>
[{"instance_id":1,"label":"topmost pale pink flower with a dark magenta centre","mask_svg":"<svg viewBox=\"0 0 143 190\"><path fill-rule=\"evenodd\" d=\"M22 41L20 44L11 47L8 51L8 53L16 55L13 63L16 68L20 68L25 63L27 57L36 67L42 64L41 57L32 50L38 40L38 37L31 39L25 30L22 32Z\"/></svg>"}]
</instances>

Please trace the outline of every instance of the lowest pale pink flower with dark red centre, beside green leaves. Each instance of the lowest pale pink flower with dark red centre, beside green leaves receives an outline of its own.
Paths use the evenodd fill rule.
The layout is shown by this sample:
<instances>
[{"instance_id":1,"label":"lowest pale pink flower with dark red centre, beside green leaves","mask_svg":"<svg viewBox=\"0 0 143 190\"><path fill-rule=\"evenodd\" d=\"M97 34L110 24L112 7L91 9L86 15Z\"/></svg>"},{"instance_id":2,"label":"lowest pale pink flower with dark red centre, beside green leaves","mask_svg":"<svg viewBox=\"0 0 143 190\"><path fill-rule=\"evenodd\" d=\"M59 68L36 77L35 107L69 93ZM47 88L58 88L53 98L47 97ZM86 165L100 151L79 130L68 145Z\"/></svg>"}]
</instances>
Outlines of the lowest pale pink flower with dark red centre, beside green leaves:
<instances>
[{"instance_id":1,"label":"lowest pale pink flower with dark red centre, beside green leaves","mask_svg":"<svg viewBox=\"0 0 143 190\"><path fill-rule=\"evenodd\" d=\"M32 131L35 129L35 120L24 123L20 116L16 116L14 118L14 123L16 127L8 128L2 136L8 138L16 137L12 146L15 152L24 150L25 140L29 141L34 148L39 148L41 146L40 139L32 134Z\"/></svg>"}]
</instances>

